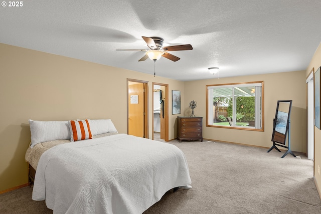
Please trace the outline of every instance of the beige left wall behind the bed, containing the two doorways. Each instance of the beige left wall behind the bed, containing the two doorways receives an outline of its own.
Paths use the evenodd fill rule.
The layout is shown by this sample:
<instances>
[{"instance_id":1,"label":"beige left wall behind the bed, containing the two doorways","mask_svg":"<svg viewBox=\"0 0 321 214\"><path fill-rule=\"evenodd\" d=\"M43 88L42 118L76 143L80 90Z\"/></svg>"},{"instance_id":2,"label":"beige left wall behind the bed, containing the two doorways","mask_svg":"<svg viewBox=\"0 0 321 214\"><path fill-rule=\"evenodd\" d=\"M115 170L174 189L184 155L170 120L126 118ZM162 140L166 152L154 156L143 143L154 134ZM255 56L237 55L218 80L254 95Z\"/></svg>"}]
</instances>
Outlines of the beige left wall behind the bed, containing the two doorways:
<instances>
[{"instance_id":1,"label":"beige left wall behind the bed, containing the two doorways","mask_svg":"<svg viewBox=\"0 0 321 214\"><path fill-rule=\"evenodd\" d=\"M182 91L184 102L184 82L5 44L0 44L0 75L0 191L28 182L28 119L110 118L120 133L126 133L127 78L144 80L149 87L151 138L152 82L169 84L170 95L172 90ZM170 139L175 138L177 116L169 114Z\"/></svg>"}]
</instances>

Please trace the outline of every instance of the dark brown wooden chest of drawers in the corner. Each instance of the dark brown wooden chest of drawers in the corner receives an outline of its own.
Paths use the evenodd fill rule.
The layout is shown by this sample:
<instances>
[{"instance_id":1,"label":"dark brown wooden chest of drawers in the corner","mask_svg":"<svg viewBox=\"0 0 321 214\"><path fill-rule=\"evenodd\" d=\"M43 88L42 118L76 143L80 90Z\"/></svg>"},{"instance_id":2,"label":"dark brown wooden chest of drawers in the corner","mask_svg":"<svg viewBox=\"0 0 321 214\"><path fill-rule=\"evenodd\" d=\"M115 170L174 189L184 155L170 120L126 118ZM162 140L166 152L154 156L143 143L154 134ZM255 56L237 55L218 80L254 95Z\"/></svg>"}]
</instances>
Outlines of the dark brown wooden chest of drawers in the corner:
<instances>
[{"instance_id":1,"label":"dark brown wooden chest of drawers in the corner","mask_svg":"<svg viewBox=\"0 0 321 214\"><path fill-rule=\"evenodd\" d=\"M201 140L203 142L202 131L203 117L178 117L177 139Z\"/></svg>"}]
</instances>

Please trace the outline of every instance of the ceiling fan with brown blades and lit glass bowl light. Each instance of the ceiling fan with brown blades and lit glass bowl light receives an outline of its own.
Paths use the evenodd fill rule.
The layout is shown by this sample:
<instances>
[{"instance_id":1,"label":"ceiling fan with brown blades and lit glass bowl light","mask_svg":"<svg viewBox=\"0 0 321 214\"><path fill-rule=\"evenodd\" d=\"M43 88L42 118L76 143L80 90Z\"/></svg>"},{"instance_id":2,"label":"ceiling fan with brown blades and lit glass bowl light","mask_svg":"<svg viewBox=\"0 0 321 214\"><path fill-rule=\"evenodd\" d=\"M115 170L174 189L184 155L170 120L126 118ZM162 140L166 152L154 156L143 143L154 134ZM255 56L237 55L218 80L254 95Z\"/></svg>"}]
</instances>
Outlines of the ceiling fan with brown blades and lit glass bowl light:
<instances>
[{"instance_id":1,"label":"ceiling fan with brown blades and lit glass bowl light","mask_svg":"<svg viewBox=\"0 0 321 214\"><path fill-rule=\"evenodd\" d=\"M147 58L156 62L156 60L159 60L161 57L165 57L169 60L172 60L173 62L176 62L181 58L168 53L168 51L193 50L193 47L191 45L175 45L163 47L164 40L161 37L142 37L142 39L146 42L149 49L118 49L116 51L146 51L146 54L140 60L138 60L138 62L145 61Z\"/></svg>"}]
</instances>

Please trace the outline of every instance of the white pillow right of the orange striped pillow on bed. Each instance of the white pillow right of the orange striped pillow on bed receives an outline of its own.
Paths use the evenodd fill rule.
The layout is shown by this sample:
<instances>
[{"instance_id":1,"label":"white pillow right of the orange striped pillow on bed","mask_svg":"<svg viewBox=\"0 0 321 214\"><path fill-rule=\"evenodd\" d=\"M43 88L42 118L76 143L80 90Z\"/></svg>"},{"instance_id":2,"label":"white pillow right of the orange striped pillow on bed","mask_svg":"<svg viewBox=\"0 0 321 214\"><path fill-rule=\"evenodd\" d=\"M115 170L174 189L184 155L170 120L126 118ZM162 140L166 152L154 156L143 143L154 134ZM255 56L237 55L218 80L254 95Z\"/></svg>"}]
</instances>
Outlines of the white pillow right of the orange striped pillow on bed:
<instances>
[{"instance_id":1,"label":"white pillow right of the orange striped pillow on bed","mask_svg":"<svg viewBox=\"0 0 321 214\"><path fill-rule=\"evenodd\" d=\"M93 136L98 134L104 134L107 132L118 133L111 119L99 119L99 120L88 120L88 121L89 121L91 134Z\"/></svg>"}]
</instances>

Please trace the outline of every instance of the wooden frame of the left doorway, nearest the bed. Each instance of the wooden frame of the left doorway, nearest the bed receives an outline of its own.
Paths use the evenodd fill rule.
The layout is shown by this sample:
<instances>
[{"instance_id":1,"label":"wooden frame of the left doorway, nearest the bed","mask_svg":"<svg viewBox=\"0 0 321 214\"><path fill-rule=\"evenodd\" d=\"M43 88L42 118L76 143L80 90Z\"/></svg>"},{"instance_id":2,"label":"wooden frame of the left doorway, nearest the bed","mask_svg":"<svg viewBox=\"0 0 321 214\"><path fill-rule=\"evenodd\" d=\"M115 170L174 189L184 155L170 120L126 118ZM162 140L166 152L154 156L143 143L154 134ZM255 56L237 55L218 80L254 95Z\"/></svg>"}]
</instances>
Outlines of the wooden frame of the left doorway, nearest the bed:
<instances>
[{"instance_id":1,"label":"wooden frame of the left doorway, nearest the bed","mask_svg":"<svg viewBox=\"0 0 321 214\"><path fill-rule=\"evenodd\" d=\"M144 137L148 138L149 133L148 133L148 81L143 81L143 80L136 80L136 79L129 79L127 78L127 134L129 133L129 82L136 82L136 83L142 83L143 88L144 88Z\"/></svg>"}]
</instances>

